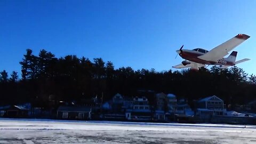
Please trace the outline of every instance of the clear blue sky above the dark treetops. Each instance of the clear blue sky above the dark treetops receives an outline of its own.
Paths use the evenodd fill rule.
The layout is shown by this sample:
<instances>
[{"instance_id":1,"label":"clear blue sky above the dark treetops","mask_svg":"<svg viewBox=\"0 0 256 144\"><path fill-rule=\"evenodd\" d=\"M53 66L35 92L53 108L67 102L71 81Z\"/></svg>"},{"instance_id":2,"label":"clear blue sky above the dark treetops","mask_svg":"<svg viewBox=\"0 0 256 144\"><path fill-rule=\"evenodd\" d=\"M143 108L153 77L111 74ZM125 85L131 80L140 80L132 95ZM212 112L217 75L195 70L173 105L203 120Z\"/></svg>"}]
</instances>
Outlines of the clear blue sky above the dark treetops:
<instances>
[{"instance_id":1,"label":"clear blue sky above the dark treetops","mask_svg":"<svg viewBox=\"0 0 256 144\"><path fill-rule=\"evenodd\" d=\"M211 50L237 34L238 67L256 74L256 1L0 0L0 70L20 74L26 49L102 58L115 68L173 69L183 49ZM174 69L173 69L174 70Z\"/></svg>"}]
</instances>

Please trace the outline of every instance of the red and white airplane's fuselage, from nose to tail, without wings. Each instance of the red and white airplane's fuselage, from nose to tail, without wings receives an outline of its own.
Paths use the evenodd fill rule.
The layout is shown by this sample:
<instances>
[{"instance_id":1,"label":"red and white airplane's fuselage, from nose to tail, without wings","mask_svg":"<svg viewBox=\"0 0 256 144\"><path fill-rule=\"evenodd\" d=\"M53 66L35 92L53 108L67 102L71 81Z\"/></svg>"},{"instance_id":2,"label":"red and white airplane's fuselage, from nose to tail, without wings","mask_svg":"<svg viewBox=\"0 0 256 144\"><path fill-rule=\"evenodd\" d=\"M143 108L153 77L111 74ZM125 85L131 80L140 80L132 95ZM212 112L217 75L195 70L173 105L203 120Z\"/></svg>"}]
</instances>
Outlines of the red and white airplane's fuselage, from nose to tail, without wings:
<instances>
[{"instance_id":1,"label":"red and white airplane's fuselage, from nose to tail, without wings","mask_svg":"<svg viewBox=\"0 0 256 144\"><path fill-rule=\"evenodd\" d=\"M201 55L204 55L205 53L194 51L194 50L182 50L179 55L181 58L188 60L188 61L193 61L196 63L202 63L204 65L220 65L220 66L234 66L235 63L226 60L225 58L219 59L217 62L215 61L206 61L199 59L198 57Z\"/></svg>"}]
</instances>

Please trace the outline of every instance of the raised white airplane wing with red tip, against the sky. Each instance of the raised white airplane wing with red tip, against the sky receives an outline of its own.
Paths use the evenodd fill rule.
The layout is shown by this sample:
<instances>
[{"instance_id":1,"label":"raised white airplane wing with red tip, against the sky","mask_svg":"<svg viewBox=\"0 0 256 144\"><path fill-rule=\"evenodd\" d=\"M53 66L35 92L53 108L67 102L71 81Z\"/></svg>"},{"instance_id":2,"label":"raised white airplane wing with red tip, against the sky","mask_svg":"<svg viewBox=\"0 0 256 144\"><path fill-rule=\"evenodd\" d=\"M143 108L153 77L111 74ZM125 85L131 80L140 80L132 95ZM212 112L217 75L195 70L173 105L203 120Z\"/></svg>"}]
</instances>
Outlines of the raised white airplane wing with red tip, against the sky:
<instances>
[{"instance_id":1,"label":"raised white airplane wing with red tip, against the sky","mask_svg":"<svg viewBox=\"0 0 256 144\"><path fill-rule=\"evenodd\" d=\"M197 58L217 62L219 59L225 57L229 51L233 50L236 46L243 43L250 36L245 34L238 34L237 36L229 39L227 42L222 43L221 45L214 47L211 51L201 55Z\"/></svg>"}]
</instances>

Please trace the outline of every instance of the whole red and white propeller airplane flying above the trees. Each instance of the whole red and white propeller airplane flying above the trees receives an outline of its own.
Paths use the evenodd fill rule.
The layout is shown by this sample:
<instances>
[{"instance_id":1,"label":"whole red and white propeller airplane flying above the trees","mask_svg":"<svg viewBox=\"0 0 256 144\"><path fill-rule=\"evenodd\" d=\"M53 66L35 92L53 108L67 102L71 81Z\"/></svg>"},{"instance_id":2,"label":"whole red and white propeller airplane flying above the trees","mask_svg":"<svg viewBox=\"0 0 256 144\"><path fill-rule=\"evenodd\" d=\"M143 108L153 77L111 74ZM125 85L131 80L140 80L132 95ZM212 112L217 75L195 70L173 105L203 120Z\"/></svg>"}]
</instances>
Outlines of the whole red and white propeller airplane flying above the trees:
<instances>
[{"instance_id":1,"label":"whole red and white propeller airplane flying above the trees","mask_svg":"<svg viewBox=\"0 0 256 144\"><path fill-rule=\"evenodd\" d=\"M236 61L236 51L233 51L227 58L223 57L225 57L228 52L233 50L236 46L243 43L248 38L250 38L250 36L238 34L237 36L229 39L227 42L214 47L211 51L200 48L194 50L182 50L182 45L180 50L177 50L176 52L185 60L182 61L180 65L173 66L173 68L191 68L198 70L198 68L205 67L205 65L218 65L220 68L235 66L238 63L245 62L250 59Z\"/></svg>"}]
</instances>

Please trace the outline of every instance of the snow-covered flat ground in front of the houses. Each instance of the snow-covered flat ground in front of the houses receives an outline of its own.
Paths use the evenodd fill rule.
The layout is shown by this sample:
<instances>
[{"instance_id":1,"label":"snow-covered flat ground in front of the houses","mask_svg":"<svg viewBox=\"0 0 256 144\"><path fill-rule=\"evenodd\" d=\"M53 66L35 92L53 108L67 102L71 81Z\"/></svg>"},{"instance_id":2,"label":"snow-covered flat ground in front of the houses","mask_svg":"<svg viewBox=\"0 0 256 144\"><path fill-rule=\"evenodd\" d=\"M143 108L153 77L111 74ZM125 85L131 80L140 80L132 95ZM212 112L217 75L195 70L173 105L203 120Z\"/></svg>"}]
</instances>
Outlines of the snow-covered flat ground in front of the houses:
<instances>
[{"instance_id":1,"label":"snow-covered flat ground in front of the houses","mask_svg":"<svg viewBox=\"0 0 256 144\"><path fill-rule=\"evenodd\" d=\"M256 126L0 119L0 143L256 143Z\"/></svg>"}]
</instances>

